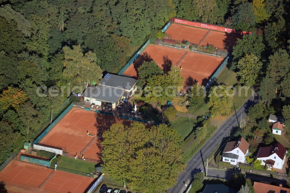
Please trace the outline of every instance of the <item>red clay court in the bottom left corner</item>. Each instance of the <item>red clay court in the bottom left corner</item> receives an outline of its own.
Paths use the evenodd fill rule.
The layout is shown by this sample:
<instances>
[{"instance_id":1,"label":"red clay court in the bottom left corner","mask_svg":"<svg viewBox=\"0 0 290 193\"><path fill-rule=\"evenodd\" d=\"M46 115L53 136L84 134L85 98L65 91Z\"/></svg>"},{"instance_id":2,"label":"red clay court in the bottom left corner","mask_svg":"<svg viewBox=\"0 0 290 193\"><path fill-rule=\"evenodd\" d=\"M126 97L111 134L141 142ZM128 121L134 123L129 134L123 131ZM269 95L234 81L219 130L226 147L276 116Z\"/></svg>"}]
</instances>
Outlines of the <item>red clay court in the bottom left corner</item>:
<instances>
[{"instance_id":1,"label":"red clay court in the bottom left corner","mask_svg":"<svg viewBox=\"0 0 290 193\"><path fill-rule=\"evenodd\" d=\"M52 169L45 169L44 166L12 160L0 172L0 181L4 181L9 193L79 193L84 192L93 181L89 177L56 170L38 190L51 172Z\"/></svg>"}]
</instances>

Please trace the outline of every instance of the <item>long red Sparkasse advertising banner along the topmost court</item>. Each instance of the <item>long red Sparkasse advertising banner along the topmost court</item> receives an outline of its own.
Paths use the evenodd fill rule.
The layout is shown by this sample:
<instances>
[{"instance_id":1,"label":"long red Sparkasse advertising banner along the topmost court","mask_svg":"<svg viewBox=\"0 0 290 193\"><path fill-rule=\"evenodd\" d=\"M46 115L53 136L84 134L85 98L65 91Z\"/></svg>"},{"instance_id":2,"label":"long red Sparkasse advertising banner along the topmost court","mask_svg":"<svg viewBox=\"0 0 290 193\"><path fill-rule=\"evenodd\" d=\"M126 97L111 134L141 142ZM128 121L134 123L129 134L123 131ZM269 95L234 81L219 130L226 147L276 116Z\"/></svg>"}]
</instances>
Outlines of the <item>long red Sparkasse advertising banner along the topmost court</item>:
<instances>
[{"instance_id":1,"label":"long red Sparkasse advertising banner along the topmost court","mask_svg":"<svg viewBox=\"0 0 290 193\"><path fill-rule=\"evenodd\" d=\"M207 24L207 23L197 23L197 22L193 22L193 21L187 21L184 19L175 18L174 23L180 23L180 24L184 24L184 25L188 25L188 26L197 27L197 28L205 28L205 29L209 29L209 30L215 30L215 31L226 32L226 33L231 33L231 34L240 34L240 35L251 34L251 32L244 32L244 31L238 32L237 30L231 29L231 28L224 28L224 27L220 27L220 26Z\"/></svg>"}]
</instances>

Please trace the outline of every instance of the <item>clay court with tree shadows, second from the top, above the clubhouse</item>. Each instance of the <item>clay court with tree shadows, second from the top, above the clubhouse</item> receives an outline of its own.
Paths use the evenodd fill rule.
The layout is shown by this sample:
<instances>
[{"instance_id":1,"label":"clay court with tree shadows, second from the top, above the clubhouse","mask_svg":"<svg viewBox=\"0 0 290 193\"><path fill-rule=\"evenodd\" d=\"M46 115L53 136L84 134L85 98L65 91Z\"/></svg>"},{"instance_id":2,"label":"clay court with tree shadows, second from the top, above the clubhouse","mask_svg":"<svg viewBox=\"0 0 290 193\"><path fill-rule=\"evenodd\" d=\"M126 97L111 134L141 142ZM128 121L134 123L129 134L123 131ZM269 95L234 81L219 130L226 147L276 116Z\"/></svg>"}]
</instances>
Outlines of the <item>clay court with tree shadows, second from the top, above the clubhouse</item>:
<instances>
[{"instance_id":1,"label":"clay court with tree shadows, second from the top, above the clubhouse","mask_svg":"<svg viewBox=\"0 0 290 193\"><path fill-rule=\"evenodd\" d=\"M161 69L166 71L171 64L176 64L185 52L186 50L150 44L124 72L124 74L137 77L137 69L144 60L154 60ZM222 57L215 57L187 50L187 56L179 65L179 67L182 67L181 74L185 79L185 85L190 85L196 81L205 85L208 78L213 74L223 60L224 58Z\"/></svg>"}]
</instances>

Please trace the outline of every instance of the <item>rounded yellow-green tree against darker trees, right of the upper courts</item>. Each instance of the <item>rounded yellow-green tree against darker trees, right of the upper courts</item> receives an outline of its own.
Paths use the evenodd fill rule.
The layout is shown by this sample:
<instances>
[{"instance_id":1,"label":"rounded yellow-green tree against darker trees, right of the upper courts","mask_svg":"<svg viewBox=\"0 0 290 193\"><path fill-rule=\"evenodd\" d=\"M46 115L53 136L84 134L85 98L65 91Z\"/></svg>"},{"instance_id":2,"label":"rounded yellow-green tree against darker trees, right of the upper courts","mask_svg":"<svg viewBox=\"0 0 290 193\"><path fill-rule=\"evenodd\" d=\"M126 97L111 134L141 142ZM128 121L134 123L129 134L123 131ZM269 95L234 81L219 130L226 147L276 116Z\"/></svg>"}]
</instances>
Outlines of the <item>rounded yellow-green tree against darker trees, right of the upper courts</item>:
<instances>
[{"instance_id":1,"label":"rounded yellow-green tree against darker trees, right of the upper courts","mask_svg":"<svg viewBox=\"0 0 290 193\"><path fill-rule=\"evenodd\" d=\"M238 61L237 72L241 77L240 82L246 86L252 86L255 84L258 74L262 68L262 62L254 54L246 54L245 57Z\"/></svg>"}]
</instances>

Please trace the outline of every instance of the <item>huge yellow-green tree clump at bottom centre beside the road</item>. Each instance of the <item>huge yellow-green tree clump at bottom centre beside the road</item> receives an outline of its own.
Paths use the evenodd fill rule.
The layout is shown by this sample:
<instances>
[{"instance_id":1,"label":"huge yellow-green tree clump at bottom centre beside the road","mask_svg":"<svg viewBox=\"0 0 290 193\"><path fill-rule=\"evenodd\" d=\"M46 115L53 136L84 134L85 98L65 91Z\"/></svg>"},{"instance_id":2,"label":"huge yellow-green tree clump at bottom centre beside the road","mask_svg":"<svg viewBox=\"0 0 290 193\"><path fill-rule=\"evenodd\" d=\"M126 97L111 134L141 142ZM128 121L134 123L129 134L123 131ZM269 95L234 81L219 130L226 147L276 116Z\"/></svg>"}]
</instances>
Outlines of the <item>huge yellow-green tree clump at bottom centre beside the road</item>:
<instances>
[{"instance_id":1,"label":"huge yellow-green tree clump at bottom centre beside the road","mask_svg":"<svg viewBox=\"0 0 290 193\"><path fill-rule=\"evenodd\" d=\"M103 137L104 172L135 191L164 192L184 169L183 140L166 125L148 130L139 122L115 123Z\"/></svg>"}]
</instances>

